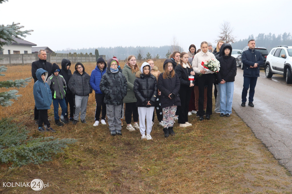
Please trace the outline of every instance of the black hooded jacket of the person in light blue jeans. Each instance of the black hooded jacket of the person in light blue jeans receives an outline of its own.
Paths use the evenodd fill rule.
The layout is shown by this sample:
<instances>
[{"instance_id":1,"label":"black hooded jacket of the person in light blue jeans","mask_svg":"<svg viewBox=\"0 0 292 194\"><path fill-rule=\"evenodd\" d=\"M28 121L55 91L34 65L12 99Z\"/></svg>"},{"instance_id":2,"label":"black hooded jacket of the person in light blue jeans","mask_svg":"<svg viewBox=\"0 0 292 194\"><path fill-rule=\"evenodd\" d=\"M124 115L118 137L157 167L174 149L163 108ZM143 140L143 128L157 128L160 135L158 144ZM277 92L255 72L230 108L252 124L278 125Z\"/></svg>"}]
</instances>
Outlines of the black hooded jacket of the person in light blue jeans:
<instances>
[{"instance_id":1,"label":"black hooded jacket of the person in light blue jeans","mask_svg":"<svg viewBox=\"0 0 292 194\"><path fill-rule=\"evenodd\" d=\"M230 54L225 56L224 50L229 48ZM221 57L218 58L220 62L220 71L216 73L218 82L225 80L226 82L234 82L235 73L237 70L236 59L231 56L232 47L230 44L223 44L220 48Z\"/></svg>"}]
</instances>

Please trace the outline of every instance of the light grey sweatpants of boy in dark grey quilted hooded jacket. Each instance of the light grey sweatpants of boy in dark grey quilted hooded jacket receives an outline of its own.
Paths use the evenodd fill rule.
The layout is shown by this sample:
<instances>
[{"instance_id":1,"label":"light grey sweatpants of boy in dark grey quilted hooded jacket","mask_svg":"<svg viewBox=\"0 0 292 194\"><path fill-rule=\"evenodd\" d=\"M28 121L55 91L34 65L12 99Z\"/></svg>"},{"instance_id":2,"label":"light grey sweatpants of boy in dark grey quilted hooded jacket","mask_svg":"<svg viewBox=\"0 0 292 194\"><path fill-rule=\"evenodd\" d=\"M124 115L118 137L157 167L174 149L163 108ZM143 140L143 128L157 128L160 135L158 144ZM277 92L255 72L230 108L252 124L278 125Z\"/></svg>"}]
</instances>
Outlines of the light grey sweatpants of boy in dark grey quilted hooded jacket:
<instances>
[{"instance_id":1,"label":"light grey sweatpants of boy in dark grey quilted hooded jacket","mask_svg":"<svg viewBox=\"0 0 292 194\"><path fill-rule=\"evenodd\" d=\"M74 105L75 105L74 120L78 121L79 113L80 113L80 119L85 120L87 102L88 102L88 96L75 95L75 98L74 98Z\"/></svg>"}]
</instances>

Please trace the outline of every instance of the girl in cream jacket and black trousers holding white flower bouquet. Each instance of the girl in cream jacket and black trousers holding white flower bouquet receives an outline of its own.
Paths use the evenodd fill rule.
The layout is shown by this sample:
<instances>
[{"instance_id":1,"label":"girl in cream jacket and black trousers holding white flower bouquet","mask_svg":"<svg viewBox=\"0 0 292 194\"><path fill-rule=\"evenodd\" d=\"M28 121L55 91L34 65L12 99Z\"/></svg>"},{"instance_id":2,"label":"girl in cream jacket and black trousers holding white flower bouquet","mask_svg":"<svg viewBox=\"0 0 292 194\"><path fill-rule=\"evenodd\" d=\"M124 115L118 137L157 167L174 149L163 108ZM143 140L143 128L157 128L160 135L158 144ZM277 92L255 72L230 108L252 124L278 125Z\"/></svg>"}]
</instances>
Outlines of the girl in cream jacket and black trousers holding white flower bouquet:
<instances>
[{"instance_id":1,"label":"girl in cream jacket and black trousers holding white flower bouquet","mask_svg":"<svg viewBox=\"0 0 292 194\"><path fill-rule=\"evenodd\" d=\"M214 76L212 75L215 72L207 71L202 66L205 61L209 59L215 59L213 53L208 52L208 43L203 41L201 43L201 51L194 56L192 62L192 68L194 72L199 74L198 77L198 87L199 87L199 116L200 121L204 120L204 88L207 86L207 107L206 107L206 119L210 119L212 114L212 89L213 89L213 80Z\"/></svg>"}]
</instances>

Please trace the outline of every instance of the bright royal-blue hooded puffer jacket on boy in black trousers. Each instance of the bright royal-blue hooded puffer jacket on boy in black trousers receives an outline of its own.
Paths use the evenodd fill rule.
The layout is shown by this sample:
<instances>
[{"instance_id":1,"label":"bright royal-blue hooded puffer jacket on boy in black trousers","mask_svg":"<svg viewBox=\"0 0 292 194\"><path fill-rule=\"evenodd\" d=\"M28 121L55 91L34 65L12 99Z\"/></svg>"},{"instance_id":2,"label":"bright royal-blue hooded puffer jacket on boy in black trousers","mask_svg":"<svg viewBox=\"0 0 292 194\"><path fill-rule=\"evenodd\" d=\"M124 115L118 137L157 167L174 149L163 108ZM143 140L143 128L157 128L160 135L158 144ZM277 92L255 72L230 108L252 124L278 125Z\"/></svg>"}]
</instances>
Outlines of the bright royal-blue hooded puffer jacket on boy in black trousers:
<instances>
[{"instance_id":1,"label":"bright royal-blue hooded puffer jacket on boy in black trousers","mask_svg":"<svg viewBox=\"0 0 292 194\"><path fill-rule=\"evenodd\" d=\"M105 63L105 60L100 57L97 60L96 64L100 61ZM106 69L107 69L107 64L105 63L105 66L102 70L100 70L100 68L98 68L98 66L96 65L95 69L93 69L91 72L90 85L91 85L92 89L95 91L95 94L102 94L102 92L100 91L100 88L99 88L99 84L100 84L100 80L102 78L102 75L105 74L105 72L106 72Z\"/></svg>"}]
</instances>

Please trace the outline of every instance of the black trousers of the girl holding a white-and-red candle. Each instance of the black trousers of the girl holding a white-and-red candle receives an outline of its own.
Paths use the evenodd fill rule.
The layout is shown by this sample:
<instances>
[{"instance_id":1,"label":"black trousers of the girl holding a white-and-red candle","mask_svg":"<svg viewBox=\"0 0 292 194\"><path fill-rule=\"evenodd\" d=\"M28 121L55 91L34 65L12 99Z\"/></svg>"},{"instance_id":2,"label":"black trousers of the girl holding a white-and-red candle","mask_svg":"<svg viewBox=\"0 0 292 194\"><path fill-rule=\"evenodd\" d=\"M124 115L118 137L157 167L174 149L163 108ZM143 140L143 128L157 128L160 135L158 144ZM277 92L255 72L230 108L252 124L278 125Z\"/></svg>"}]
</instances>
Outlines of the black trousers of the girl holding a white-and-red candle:
<instances>
[{"instance_id":1,"label":"black trousers of the girl holding a white-and-red candle","mask_svg":"<svg viewBox=\"0 0 292 194\"><path fill-rule=\"evenodd\" d=\"M192 87L185 87L180 86L180 109L178 112L178 123L179 124L185 124L185 122L188 122L188 116L189 113L189 103L191 99L191 92Z\"/></svg>"}]
</instances>

